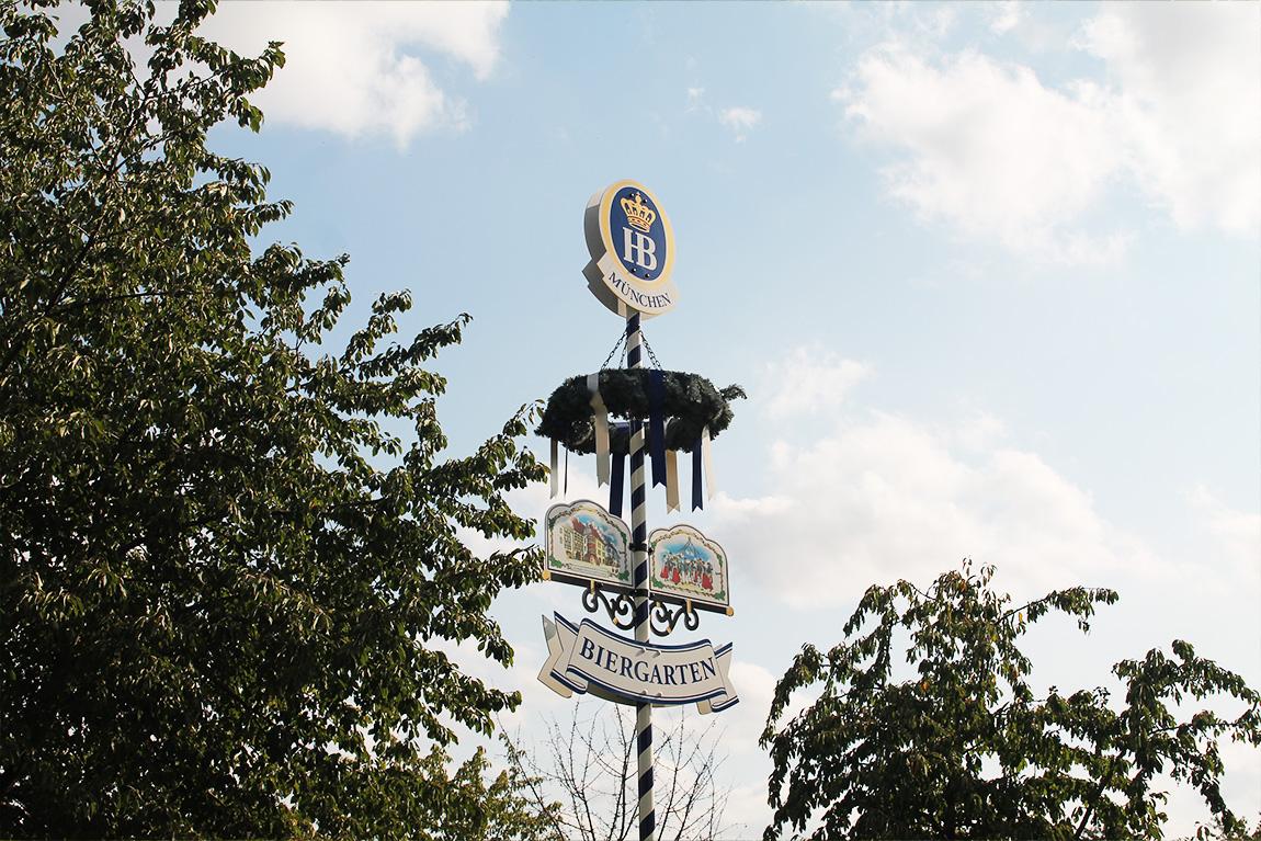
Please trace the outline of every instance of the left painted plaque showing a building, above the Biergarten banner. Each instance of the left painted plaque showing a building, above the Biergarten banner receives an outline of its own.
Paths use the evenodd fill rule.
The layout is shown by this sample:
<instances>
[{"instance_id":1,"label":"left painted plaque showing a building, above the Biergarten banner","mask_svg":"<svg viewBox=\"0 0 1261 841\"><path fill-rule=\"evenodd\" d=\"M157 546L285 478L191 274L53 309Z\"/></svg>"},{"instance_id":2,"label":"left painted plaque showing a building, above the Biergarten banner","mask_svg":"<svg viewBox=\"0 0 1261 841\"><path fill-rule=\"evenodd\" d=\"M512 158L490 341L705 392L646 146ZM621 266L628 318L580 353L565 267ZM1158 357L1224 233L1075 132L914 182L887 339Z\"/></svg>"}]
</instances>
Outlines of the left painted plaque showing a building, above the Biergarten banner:
<instances>
[{"instance_id":1,"label":"left painted plaque showing a building, above the Biergarten banner","mask_svg":"<svg viewBox=\"0 0 1261 841\"><path fill-rule=\"evenodd\" d=\"M547 509L543 577L630 588L630 528L598 503L579 499Z\"/></svg>"}]
</instances>

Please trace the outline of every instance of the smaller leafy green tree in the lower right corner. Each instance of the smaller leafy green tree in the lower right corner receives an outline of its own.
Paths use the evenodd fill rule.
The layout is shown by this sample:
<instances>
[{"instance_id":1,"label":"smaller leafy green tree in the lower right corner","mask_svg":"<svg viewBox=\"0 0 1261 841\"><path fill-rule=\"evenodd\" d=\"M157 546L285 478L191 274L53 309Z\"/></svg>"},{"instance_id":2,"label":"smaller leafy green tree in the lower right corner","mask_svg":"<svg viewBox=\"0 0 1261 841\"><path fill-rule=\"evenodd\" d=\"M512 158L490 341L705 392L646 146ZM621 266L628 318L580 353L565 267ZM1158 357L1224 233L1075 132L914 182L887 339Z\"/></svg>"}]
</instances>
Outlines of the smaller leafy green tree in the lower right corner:
<instances>
[{"instance_id":1,"label":"smaller leafy green tree in the lower right corner","mask_svg":"<svg viewBox=\"0 0 1261 841\"><path fill-rule=\"evenodd\" d=\"M1221 796L1217 745L1261 743L1257 692L1175 641L1171 657L1153 649L1113 667L1120 709L1105 688L1034 697L1016 647L1028 625L1062 612L1087 632L1095 606L1117 595L1078 586L1011 606L992 575L965 561L927 590L871 586L844 642L802 648L762 735L774 762L765 837L786 826L813 827L812 838L1159 837L1161 772L1197 787L1224 833L1242 832ZM903 641L915 675L894 680ZM792 693L818 683L818 699L782 720ZM1184 697L1217 695L1243 711L1175 715Z\"/></svg>"}]
</instances>

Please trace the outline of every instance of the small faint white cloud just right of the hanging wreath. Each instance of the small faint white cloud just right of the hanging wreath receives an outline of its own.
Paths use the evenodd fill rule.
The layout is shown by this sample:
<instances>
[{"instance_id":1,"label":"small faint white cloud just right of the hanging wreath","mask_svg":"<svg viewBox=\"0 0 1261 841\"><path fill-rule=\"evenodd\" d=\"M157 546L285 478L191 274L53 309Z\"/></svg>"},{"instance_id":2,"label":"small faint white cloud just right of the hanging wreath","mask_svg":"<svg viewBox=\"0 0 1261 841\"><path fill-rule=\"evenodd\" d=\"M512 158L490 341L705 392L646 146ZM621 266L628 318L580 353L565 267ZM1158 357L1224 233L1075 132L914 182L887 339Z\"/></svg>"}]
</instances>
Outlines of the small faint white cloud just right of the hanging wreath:
<instances>
[{"instance_id":1,"label":"small faint white cloud just right of the hanging wreath","mask_svg":"<svg viewBox=\"0 0 1261 841\"><path fill-rule=\"evenodd\" d=\"M767 414L783 420L836 409L871 369L813 347L793 349L784 359L767 363L762 373L765 387L760 391L769 395Z\"/></svg>"}]
</instances>

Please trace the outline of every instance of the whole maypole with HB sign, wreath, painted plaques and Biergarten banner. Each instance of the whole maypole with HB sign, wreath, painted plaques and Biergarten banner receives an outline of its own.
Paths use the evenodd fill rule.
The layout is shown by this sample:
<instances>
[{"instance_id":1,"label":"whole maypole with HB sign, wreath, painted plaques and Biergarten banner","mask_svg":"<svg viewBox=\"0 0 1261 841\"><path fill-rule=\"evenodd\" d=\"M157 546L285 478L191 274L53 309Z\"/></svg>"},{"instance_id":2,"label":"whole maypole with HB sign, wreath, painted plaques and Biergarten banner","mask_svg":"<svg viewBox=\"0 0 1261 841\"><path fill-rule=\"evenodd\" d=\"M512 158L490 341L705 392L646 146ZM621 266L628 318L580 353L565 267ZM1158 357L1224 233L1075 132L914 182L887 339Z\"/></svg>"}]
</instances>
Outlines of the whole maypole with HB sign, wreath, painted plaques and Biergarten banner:
<instances>
[{"instance_id":1,"label":"whole maypole with HB sign, wreath, painted plaques and Biergarten banner","mask_svg":"<svg viewBox=\"0 0 1261 841\"><path fill-rule=\"evenodd\" d=\"M666 487L666 512L678 511L678 453L691 453L692 509L704 506L702 474L710 440L731 421L738 386L643 363L642 320L678 299L668 217L647 188L618 182L588 203L584 229L591 261L583 274L607 308L625 319L627 367L571 377L552 393L537 434L551 439L552 496L560 493L559 453L595 454L609 508L589 499L554 504L543 518L542 577L581 586L588 613L607 613L622 637L560 613L543 617L549 657L538 680L557 693L590 692L636 707L641 841L656 841L652 707L696 704L704 714L738 702L728 677L731 646L709 639L661 646L676 627L700 627L697 612L733 615L726 554L691 526L648 532L648 459L652 487ZM620 342L619 342L620 343ZM615 351L617 348L614 348ZM649 356L652 356L649 349ZM610 353L612 358L613 354ZM612 421L610 416L625 421ZM625 459L630 461L630 526L622 519ZM709 490L712 493L712 473Z\"/></svg>"}]
</instances>

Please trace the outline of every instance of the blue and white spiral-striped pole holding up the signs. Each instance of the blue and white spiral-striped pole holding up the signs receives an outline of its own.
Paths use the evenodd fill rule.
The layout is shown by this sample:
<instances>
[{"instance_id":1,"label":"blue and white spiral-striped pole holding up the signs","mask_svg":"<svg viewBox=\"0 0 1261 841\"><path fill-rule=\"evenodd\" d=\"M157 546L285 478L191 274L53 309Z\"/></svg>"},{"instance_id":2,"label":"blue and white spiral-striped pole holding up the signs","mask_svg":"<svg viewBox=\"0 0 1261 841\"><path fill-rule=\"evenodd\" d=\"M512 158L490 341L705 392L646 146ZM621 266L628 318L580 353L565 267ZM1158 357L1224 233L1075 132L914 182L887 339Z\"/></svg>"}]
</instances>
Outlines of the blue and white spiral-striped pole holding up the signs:
<instances>
[{"instance_id":1,"label":"blue and white spiral-striped pole holding up the signs","mask_svg":"<svg viewBox=\"0 0 1261 841\"><path fill-rule=\"evenodd\" d=\"M627 367L643 367L639 313L627 316ZM630 421L630 550L634 562L634 638L649 641L648 627L648 489L643 469L643 421ZM652 705L637 704L636 746L639 755L639 841L656 841L657 815L652 808Z\"/></svg>"}]
</instances>

